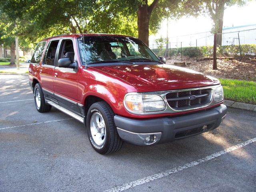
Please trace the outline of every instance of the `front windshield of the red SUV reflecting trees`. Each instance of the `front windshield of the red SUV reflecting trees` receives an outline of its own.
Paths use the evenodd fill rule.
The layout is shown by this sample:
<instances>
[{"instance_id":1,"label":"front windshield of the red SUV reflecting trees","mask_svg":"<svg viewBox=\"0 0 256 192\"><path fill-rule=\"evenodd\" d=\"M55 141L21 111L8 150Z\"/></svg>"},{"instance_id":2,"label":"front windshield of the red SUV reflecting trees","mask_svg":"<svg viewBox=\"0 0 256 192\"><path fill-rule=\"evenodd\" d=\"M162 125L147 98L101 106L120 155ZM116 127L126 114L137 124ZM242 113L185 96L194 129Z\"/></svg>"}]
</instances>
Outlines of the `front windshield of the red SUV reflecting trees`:
<instances>
[{"instance_id":1,"label":"front windshield of the red SUV reflecting trees","mask_svg":"<svg viewBox=\"0 0 256 192\"><path fill-rule=\"evenodd\" d=\"M83 64L103 62L158 62L158 57L142 41L120 36L78 38Z\"/></svg>"}]
</instances>

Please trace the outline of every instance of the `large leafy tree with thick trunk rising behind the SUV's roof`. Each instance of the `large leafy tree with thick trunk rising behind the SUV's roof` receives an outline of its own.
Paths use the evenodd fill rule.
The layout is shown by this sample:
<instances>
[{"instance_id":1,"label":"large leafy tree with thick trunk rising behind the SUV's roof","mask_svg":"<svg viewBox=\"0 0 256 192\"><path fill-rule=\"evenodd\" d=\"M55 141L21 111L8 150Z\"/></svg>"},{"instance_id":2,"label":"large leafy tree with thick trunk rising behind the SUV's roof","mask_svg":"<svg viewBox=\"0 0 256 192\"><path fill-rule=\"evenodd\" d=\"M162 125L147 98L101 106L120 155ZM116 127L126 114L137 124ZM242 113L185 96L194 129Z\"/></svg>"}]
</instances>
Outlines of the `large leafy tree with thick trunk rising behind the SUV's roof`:
<instances>
[{"instance_id":1,"label":"large leafy tree with thick trunk rising behind the SUV's roof","mask_svg":"<svg viewBox=\"0 0 256 192\"><path fill-rule=\"evenodd\" d=\"M148 44L163 18L198 14L188 0L6 0L0 9L18 25L18 36L35 41L61 33L118 33ZM135 24L137 22L137 25Z\"/></svg>"}]
</instances>

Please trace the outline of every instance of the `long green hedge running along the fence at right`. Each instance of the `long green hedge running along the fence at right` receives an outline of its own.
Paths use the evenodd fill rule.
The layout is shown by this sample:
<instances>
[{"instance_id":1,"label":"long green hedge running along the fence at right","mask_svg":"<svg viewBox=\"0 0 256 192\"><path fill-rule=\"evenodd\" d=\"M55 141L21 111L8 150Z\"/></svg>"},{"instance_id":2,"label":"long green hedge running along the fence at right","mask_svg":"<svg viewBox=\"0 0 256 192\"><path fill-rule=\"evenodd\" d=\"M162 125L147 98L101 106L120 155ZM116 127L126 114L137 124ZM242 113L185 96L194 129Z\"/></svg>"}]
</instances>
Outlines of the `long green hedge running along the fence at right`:
<instances>
[{"instance_id":1,"label":"long green hedge running along the fence at right","mask_svg":"<svg viewBox=\"0 0 256 192\"><path fill-rule=\"evenodd\" d=\"M158 56L165 55L165 48L162 48L162 54L160 55L160 49L153 49L153 52ZM183 47L170 48L168 50L168 56L188 56L188 57L210 57L213 55L213 46L201 46L198 47ZM256 55L256 44L243 44L241 45L242 55ZM217 47L217 55L235 56L240 55L239 45L224 45Z\"/></svg>"}]
</instances>

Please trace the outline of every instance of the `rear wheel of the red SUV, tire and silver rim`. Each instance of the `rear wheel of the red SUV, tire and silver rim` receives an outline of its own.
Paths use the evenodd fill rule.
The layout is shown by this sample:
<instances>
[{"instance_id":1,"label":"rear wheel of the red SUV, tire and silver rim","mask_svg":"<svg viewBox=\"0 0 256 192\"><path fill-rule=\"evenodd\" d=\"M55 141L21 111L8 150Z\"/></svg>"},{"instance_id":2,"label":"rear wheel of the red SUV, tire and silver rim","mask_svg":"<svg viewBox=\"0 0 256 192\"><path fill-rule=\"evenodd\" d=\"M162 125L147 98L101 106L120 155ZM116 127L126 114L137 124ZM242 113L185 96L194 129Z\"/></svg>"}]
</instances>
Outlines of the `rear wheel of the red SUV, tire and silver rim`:
<instances>
[{"instance_id":1,"label":"rear wheel of the red SUV, tire and silver rim","mask_svg":"<svg viewBox=\"0 0 256 192\"><path fill-rule=\"evenodd\" d=\"M52 106L46 104L44 100L44 93L39 83L34 87L34 100L36 104L36 110L40 113L49 112Z\"/></svg>"}]
</instances>

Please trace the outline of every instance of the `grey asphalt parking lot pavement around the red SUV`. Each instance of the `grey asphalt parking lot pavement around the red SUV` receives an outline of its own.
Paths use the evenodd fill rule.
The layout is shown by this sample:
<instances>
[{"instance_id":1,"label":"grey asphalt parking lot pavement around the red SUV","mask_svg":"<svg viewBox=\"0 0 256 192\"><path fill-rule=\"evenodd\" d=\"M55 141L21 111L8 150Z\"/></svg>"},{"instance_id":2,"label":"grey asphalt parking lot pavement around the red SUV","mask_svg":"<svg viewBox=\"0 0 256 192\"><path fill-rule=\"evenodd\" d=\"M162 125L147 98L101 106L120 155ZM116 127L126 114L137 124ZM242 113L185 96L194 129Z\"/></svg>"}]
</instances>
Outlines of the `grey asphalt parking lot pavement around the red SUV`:
<instances>
[{"instance_id":1,"label":"grey asphalt parking lot pavement around the red SUV","mask_svg":"<svg viewBox=\"0 0 256 192\"><path fill-rule=\"evenodd\" d=\"M0 75L0 191L255 191L256 113L228 108L210 132L100 155L80 122L39 113L27 76Z\"/></svg>"}]
</instances>

